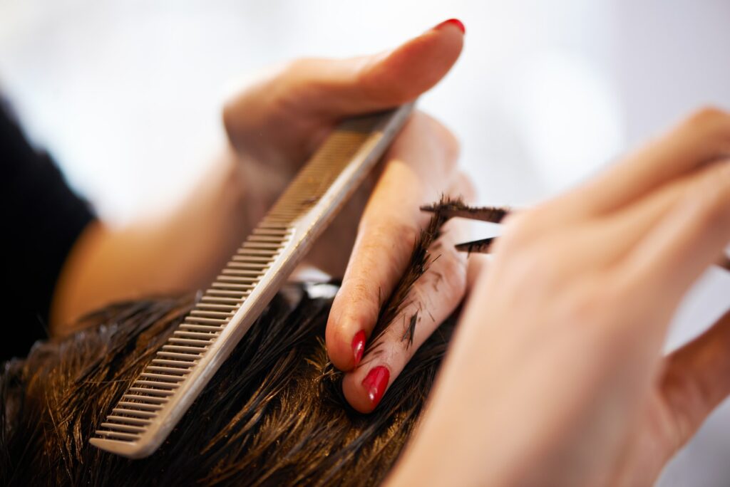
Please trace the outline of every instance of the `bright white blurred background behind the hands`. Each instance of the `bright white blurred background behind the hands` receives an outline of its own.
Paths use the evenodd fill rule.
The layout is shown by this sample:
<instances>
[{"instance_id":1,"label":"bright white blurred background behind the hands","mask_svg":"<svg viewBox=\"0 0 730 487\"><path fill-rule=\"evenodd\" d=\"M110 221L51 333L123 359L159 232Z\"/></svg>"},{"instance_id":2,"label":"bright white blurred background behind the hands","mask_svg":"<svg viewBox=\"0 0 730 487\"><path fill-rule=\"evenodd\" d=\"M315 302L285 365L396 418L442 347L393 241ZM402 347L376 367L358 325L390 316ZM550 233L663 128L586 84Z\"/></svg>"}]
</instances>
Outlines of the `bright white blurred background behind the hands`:
<instances>
[{"instance_id":1,"label":"bright white blurred background behind the hands","mask_svg":"<svg viewBox=\"0 0 730 487\"><path fill-rule=\"evenodd\" d=\"M446 122L480 203L529 205L705 104L730 107L727 0L0 0L0 92L102 217L174 204L224 144L220 106L255 69L466 24L420 107ZM667 348L730 305L710 270ZM658 485L730 485L730 402Z\"/></svg>"}]
</instances>

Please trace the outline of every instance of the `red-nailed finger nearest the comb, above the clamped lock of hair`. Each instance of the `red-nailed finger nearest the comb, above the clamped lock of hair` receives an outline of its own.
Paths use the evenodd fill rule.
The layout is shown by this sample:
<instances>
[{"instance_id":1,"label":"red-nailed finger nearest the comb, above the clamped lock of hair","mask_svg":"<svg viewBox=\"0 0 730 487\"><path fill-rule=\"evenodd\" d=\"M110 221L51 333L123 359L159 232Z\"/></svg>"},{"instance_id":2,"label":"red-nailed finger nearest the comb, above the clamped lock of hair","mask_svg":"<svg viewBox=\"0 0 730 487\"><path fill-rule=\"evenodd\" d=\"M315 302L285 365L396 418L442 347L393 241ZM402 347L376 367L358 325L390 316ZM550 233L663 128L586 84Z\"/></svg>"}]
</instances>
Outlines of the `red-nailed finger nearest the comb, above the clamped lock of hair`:
<instances>
[{"instance_id":1,"label":"red-nailed finger nearest the comb, above the clamped lock of hair","mask_svg":"<svg viewBox=\"0 0 730 487\"><path fill-rule=\"evenodd\" d=\"M386 157L358 227L353 253L327 322L326 342L340 370L356 367L380 306L404 272L423 203L437 200L456 177L457 143L438 122L416 113Z\"/></svg>"}]
</instances>

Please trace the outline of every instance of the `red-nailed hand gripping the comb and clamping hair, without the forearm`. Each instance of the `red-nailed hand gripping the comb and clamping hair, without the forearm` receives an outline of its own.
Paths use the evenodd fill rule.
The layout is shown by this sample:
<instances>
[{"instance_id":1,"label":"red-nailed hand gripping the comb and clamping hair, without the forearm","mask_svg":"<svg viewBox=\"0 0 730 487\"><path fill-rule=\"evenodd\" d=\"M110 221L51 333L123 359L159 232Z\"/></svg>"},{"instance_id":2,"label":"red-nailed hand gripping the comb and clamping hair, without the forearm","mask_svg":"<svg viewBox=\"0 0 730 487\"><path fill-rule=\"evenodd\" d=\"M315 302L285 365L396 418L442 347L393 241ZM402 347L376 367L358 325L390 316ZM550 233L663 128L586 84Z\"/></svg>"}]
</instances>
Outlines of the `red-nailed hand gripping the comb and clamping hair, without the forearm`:
<instances>
[{"instance_id":1,"label":"red-nailed hand gripping the comb and clamping hair, without the forearm","mask_svg":"<svg viewBox=\"0 0 730 487\"><path fill-rule=\"evenodd\" d=\"M339 120L412 101L449 71L463 40L461 23L449 21L389 52L340 61L304 59L253 82L224 114L231 145L245 171L250 221L263 216ZM464 295L464 257L452 255L458 239L454 230L445 236L446 250L431 276L414 290L414 309L404 315L410 319L418 309L412 343L401 340L402 326L394 326L377 360L362 356L380 305L404 272L416 235L429 220L418 207L442 194L471 192L458 172L457 152L456 140L445 128L415 114L385 162L309 256L328 273L345 275L326 338L332 362L340 369L353 370L361 359L368 363L345 380L347 400L358 410L374 408L415 348Z\"/></svg>"}]
</instances>

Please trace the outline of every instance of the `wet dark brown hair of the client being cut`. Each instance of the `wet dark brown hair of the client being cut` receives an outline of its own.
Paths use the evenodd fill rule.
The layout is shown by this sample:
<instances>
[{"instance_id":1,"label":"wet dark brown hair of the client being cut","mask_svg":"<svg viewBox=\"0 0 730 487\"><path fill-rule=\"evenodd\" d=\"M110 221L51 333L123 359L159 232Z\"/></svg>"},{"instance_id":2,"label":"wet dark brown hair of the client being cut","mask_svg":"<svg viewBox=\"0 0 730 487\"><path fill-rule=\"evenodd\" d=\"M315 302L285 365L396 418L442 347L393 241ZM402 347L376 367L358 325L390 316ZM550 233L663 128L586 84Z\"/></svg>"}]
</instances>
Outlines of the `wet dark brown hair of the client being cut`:
<instances>
[{"instance_id":1,"label":"wet dark brown hair of the client being cut","mask_svg":"<svg viewBox=\"0 0 730 487\"><path fill-rule=\"evenodd\" d=\"M428 268L435 216L385 303L378 329ZM342 395L323 343L334 284L292 284L262 313L152 456L88 443L96 426L191 309L195 297L112 305L84 329L39 342L0 374L2 485L342 485L382 482L407 443L453 332L449 319L374 413ZM387 322L385 322L387 323ZM377 333L375 334L377 335ZM373 340L377 346L377 339Z\"/></svg>"}]
</instances>

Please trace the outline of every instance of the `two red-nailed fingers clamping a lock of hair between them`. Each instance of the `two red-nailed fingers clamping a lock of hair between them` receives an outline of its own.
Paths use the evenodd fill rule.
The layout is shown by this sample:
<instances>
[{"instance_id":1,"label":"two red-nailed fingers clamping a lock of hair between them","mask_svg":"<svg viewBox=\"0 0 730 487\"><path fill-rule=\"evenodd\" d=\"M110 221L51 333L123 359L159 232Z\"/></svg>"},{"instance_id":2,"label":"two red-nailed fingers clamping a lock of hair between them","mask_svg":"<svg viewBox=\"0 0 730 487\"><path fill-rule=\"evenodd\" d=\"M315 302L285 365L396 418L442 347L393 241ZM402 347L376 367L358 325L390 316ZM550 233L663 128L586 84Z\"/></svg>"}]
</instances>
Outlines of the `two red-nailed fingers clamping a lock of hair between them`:
<instances>
[{"instance_id":1,"label":"two red-nailed fingers clamping a lock of hair between them","mask_svg":"<svg viewBox=\"0 0 730 487\"><path fill-rule=\"evenodd\" d=\"M404 305L377 339L380 306L409 267L421 229L431 214L419 207L440 195L473 197L456 170L458 145L448 130L416 113L385 155L386 168L360 221L358 238L327 324L334 365L351 369L342 381L356 410L372 411L415 351L461 303L466 292L466 254L454 246L468 240L466 222L447 222L429 249L426 273L404 289ZM370 339L369 348L365 348ZM354 367L353 367L354 366Z\"/></svg>"}]
</instances>

